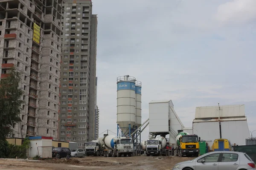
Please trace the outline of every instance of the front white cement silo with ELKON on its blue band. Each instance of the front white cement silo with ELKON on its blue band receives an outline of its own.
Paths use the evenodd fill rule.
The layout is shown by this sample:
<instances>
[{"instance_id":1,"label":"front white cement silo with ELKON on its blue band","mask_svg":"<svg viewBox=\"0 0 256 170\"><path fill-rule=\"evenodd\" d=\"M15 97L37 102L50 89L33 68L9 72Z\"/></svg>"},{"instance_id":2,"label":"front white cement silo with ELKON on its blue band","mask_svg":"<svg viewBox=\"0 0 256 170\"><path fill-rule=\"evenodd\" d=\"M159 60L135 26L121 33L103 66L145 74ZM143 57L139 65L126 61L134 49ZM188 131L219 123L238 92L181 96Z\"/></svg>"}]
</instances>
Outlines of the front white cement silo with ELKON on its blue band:
<instances>
[{"instance_id":1,"label":"front white cement silo with ELKON on its blue band","mask_svg":"<svg viewBox=\"0 0 256 170\"><path fill-rule=\"evenodd\" d=\"M123 135L129 134L135 125L135 77L117 77L117 125Z\"/></svg>"}]
</instances>

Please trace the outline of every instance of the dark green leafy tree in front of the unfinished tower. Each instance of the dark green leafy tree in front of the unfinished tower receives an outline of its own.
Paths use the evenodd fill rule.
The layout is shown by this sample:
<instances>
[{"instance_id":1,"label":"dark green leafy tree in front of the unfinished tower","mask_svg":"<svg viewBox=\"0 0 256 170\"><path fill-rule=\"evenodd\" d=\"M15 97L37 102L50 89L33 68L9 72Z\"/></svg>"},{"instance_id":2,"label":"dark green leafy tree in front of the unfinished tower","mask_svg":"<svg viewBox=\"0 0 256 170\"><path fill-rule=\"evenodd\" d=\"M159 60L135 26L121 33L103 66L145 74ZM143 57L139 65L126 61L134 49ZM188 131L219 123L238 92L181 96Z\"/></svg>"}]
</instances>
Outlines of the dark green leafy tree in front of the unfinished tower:
<instances>
[{"instance_id":1,"label":"dark green leafy tree in front of the unfinished tower","mask_svg":"<svg viewBox=\"0 0 256 170\"><path fill-rule=\"evenodd\" d=\"M23 91L19 87L20 73L11 68L8 77L0 80L0 142L6 141L12 127L20 122L20 107Z\"/></svg>"}]
</instances>

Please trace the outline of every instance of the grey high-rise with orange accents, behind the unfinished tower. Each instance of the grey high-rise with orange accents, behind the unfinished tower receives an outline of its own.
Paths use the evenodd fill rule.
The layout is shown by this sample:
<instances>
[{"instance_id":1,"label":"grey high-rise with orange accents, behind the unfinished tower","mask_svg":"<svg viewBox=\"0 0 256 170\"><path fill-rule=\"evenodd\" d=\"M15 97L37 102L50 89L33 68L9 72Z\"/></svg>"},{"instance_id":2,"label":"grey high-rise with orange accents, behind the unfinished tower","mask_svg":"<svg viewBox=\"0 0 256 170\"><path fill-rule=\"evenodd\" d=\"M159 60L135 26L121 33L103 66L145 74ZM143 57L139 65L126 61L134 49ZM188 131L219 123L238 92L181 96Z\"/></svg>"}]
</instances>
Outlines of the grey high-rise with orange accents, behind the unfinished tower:
<instances>
[{"instance_id":1,"label":"grey high-rise with orange accents, behind the unfinished tower","mask_svg":"<svg viewBox=\"0 0 256 170\"><path fill-rule=\"evenodd\" d=\"M96 139L97 16L90 0L65 0L59 140Z\"/></svg>"}]
</instances>

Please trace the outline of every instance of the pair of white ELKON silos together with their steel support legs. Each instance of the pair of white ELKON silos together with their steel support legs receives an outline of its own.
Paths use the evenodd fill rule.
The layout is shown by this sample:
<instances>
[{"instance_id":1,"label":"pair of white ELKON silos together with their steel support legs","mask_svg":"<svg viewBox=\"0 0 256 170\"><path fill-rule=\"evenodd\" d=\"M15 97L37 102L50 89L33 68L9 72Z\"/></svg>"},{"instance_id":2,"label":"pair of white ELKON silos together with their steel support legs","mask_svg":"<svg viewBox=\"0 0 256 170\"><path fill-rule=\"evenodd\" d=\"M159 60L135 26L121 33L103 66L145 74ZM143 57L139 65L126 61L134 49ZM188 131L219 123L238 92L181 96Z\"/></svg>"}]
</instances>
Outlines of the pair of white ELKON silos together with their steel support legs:
<instances>
[{"instance_id":1,"label":"pair of white ELKON silos together with their steel support legs","mask_svg":"<svg viewBox=\"0 0 256 170\"><path fill-rule=\"evenodd\" d=\"M140 145L141 82L129 75L117 77L117 136Z\"/></svg>"}]
</instances>

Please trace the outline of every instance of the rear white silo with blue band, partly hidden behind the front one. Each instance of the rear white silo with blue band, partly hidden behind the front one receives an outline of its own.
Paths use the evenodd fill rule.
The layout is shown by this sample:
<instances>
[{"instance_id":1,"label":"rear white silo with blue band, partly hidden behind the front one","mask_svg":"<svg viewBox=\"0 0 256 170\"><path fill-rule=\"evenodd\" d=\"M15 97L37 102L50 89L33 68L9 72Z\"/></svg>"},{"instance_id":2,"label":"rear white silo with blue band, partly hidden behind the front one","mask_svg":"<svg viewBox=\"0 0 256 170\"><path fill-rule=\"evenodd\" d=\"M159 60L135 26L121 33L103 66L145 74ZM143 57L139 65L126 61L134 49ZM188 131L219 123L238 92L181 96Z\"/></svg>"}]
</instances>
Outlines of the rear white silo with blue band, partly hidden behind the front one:
<instances>
[{"instance_id":1,"label":"rear white silo with blue band, partly hidden behind the front one","mask_svg":"<svg viewBox=\"0 0 256 170\"><path fill-rule=\"evenodd\" d=\"M135 82L135 127L141 125L141 82Z\"/></svg>"}]
</instances>

